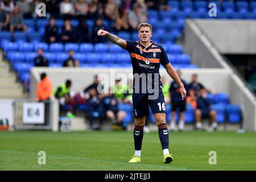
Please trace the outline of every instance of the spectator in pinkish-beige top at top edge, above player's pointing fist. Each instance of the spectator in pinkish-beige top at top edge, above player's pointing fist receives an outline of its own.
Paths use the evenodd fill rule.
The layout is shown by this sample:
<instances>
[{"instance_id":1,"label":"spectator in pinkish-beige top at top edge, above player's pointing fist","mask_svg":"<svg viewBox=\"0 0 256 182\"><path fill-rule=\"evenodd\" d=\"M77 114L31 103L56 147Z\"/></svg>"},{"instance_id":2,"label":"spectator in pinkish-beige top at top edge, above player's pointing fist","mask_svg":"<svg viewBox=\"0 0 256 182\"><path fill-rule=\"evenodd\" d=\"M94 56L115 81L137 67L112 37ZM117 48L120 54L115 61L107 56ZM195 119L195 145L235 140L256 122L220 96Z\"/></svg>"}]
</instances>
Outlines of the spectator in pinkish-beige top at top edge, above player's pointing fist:
<instances>
[{"instance_id":1,"label":"spectator in pinkish-beige top at top edge, above player's pointing fist","mask_svg":"<svg viewBox=\"0 0 256 182\"><path fill-rule=\"evenodd\" d=\"M108 0L105 4L104 14L107 20L116 20L118 16L118 5L115 4L114 0Z\"/></svg>"}]
</instances>

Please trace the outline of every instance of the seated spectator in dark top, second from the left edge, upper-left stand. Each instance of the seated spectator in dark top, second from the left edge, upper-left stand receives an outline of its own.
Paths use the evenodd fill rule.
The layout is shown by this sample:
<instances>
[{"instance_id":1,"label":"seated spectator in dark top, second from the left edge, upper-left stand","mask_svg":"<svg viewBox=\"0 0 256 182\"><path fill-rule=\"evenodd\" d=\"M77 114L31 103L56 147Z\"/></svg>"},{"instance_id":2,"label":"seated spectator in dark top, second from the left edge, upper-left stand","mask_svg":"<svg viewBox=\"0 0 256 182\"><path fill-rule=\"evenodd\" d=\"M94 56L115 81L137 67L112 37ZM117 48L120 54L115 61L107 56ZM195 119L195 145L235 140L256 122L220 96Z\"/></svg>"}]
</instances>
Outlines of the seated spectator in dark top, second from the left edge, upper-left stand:
<instances>
[{"instance_id":1,"label":"seated spectator in dark top, second from the left edge, upper-left stand","mask_svg":"<svg viewBox=\"0 0 256 182\"><path fill-rule=\"evenodd\" d=\"M15 30L23 30L24 32L27 31L27 26L23 24L23 17L19 13L19 7L15 6L13 12L10 15L10 33L13 35Z\"/></svg>"}]
</instances>

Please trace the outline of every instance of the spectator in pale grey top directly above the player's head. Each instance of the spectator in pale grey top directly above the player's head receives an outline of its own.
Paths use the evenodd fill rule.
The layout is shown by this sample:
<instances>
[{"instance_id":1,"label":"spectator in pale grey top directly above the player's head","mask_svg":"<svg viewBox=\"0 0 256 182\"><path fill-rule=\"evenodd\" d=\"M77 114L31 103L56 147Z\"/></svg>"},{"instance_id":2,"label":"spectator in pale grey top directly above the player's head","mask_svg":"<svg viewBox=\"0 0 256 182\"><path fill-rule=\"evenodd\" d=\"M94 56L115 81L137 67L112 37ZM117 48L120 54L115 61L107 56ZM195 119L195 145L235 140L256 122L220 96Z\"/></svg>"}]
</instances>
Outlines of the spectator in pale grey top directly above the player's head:
<instances>
[{"instance_id":1,"label":"spectator in pale grey top directly above the player's head","mask_svg":"<svg viewBox=\"0 0 256 182\"><path fill-rule=\"evenodd\" d=\"M133 31L137 31L139 23L147 22L147 16L142 13L142 7L140 5L134 6L134 10L129 11L128 21Z\"/></svg>"}]
</instances>

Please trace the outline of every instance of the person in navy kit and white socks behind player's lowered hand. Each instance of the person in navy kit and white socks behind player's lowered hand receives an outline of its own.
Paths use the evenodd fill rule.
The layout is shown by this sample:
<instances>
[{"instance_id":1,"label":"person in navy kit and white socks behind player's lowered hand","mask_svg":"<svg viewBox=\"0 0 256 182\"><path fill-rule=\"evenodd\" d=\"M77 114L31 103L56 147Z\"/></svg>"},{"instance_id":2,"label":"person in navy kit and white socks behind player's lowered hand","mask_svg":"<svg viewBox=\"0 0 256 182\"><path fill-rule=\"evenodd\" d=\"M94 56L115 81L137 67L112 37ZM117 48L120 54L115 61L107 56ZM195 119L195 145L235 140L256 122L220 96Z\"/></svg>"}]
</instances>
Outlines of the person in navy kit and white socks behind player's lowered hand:
<instances>
[{"instance_id":1,"label":"person in navy kit and white socks behind player's lowered hand","mask_svg":"<svg viewBox=\"0 0 256 182\"><path fill-rule=\"evenodd\" d=\"M177 71L177 75L180 77L181 82L184 85L184 88L187 89L187 84L186 82L181 79L181 71L178 70ZM184 129L184 111L186 109L186 101L182 100L182 96L180 93L180 88L179 85L175 82L172 81L170 89L170 96L171 96L171 105L172 105L172 117L171 117L171 131L176 130L176 126L175 126L175 116L177 113L177 109L179 109L179 131L183 131Z\"/></svg>"}]
</instances>

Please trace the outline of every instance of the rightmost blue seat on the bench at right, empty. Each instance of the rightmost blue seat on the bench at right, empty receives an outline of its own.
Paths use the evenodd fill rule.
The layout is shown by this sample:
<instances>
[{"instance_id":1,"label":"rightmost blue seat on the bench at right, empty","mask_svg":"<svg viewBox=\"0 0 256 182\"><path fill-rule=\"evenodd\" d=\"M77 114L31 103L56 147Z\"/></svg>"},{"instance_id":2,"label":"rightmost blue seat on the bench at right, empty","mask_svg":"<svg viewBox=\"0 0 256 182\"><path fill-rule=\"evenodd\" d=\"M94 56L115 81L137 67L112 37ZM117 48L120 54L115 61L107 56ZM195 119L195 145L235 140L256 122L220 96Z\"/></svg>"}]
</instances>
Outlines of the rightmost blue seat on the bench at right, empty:
<instances>
[{"instance_id":1,"label":"rightmost blue seat on the bench at right, empty","mask_svg":"<svg viewBox=\"0 0 256 182\"><path fill-rule=\"evenodd\" d=\"M242 120L241 107L238 105L226 106L226 114L230 123L239 123Z\"/></svg>"}]
</instances>

